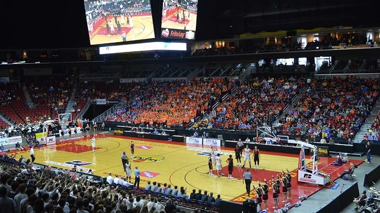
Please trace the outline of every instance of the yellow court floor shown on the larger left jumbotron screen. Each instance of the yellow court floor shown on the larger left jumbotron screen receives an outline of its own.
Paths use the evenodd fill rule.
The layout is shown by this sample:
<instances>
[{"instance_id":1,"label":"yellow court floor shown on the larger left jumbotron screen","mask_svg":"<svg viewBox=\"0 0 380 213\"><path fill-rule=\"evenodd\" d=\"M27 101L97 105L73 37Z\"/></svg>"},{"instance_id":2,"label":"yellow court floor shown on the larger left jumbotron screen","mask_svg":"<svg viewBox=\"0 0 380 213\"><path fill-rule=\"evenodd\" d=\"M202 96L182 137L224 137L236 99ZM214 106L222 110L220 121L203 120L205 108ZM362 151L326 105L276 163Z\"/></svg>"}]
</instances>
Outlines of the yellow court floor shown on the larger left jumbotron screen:
<instances>
[{"instance_id":1,"label":"yellow court floor shown on the larger left jumbotron screen","mask_svg":"<svg viewBox=\"0 0 380 213\"><path fill-rule=\"evenodd\" d=\"M108 22L114 23L115 33L117 34L117 27L114 17L109 17ZM121 23L121 18L118 17L117 21ZM127 19L124 20L124 26L122 26L122 31L127 34L127 41L136 41L142 39L152 39L154 38L153 20L152 16L134 16L133 25L131 29L127 26ZM123 38L121 36L107 36L106 22L103 22L100 27L94 29L92 36L90 38L91 44L107 44L122 42Z\"/></svg>"}]
</instances>

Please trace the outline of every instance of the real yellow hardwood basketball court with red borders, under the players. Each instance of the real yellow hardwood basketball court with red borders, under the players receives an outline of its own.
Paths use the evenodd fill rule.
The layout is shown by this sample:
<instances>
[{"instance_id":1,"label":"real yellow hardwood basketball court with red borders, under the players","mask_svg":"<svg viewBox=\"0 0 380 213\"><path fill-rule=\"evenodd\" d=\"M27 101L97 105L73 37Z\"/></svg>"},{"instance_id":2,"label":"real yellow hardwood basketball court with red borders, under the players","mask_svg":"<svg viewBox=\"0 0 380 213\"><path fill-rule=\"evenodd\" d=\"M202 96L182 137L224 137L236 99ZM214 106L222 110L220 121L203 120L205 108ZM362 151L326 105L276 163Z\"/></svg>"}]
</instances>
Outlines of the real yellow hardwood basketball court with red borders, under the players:
<instances>
[{"instance_id":1,"label":"real yellow hardwood basketball court with red borders, under the players","mask_svg":"<svg viewBox=\"0 0 380 213\"><path fill-rule=\"evenodd\" d=\"M145 187L146 182L156 181L158 183L168 183L177 185L178 187L187 187L187 194L190 195L193 189L207 190L209 193L221 195L224 200L234 202L242 202L247 197L245 193L245 185L242 183L242 174L244 168L234 166L234 179L227 179L228 168L225 162L228 155L234 156L232 148L221 147L217 153L221 154L223 172L225 177L210 177L208 175L207 158L209 156L210 147L188 146L185 143L158 141L152 139L129 138L124 136L115 136L107 134L98 134L96 146L97 150L92 153L91 137L64 139L55 145L41 147L35 149L35 163L50 164L60 168L70 169L76 165L79 169L85 172L92 169L95 175L103 177L109 173L114 175L125 176L120 155L123 151L130 157L128 146L131 140L135 143L135 158L133 158L131 167L138 166L141 172L140 187ZM18 156L28 155L26 151L17 152ZM322 187L310 184L297 183L296 169L298 167L297 154L261 152L260 170L250 169L253 175L253 184L257 186L257 182L264 183L264 179L271 180L272 175L276 177L282 171L288 169L293 177L291 204L299 201L298 197L302 194L310 196L317 192ZM349 164L344 166L331 166L331 162L336 158L320 157L318 161L319 168L324 172L331 174L332 180L335 180L338 175L345 169L349 168ZM361 164L363 161L350 160L354 164ZM234 160L236 165L236 160ZM253 166L253 162L252 162ZM247 162L246 168L249 168ZM216 171L214 171L216 174ZM133 176L133 174L132 174ZM132 177L132 181L134 181ZM268 182L269 184L269 182ZM255 198L256 194L251 188L250 198ZM270 188L268 205L272 209L274 204L272 199L273 190ZM279 207L283 207L283 195L280 194Z\"/></svg>"}]
</instances>

